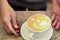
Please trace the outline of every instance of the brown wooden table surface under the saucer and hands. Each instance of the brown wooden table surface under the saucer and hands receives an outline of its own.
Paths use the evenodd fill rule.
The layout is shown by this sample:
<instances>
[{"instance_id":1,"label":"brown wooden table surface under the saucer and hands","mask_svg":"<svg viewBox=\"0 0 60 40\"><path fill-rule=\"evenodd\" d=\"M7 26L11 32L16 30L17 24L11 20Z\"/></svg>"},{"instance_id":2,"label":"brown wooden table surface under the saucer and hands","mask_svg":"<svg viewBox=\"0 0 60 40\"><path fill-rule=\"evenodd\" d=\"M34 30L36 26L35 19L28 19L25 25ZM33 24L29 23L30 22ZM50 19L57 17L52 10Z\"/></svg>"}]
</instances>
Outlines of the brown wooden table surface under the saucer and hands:
<instances>
[{"instance_id":1,"label":"brown wooden table surface under the saucer and hands","mask_svg":"<svg viewBox=\"0 0 60 40\"><path fill-rule=\"evenodd\" d=\"M51 16L51 12L45 12L45 11L17 11L16 15L17 15L17 21L19 23L19 27L21 27L21 25L27 20L27 18L33 14L46 14L49 17ZM23 40L23 38L21 37L15 37L14 35L8 34L4 28L3 25L0 23L0 40ZM60 40L60 30L59 31L55 31L53 33L53 36L51 38L51 40Z\"/></svg>"}]
</instances>

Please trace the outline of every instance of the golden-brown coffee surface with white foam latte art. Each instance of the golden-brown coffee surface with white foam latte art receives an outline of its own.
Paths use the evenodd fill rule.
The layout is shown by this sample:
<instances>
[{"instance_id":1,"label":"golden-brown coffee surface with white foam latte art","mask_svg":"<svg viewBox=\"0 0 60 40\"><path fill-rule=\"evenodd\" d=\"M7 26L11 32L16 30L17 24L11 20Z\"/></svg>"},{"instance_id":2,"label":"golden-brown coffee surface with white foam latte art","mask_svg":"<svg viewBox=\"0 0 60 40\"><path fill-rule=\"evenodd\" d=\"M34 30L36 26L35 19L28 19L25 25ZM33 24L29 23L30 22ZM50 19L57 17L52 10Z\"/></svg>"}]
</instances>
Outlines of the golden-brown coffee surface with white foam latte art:
<instances>
[{"instance_id":1,"label":"golden-brown coffee surface with white foam latte art","mask_svg":"<svg viewBox=\"0 0 60 40\"><path fill-rule=\"evenodd\" d=\"M45 30L51 25L50 19L44 14L32 15L27 20L27 25L35 31Z\"/></svg>"}]
</instances>

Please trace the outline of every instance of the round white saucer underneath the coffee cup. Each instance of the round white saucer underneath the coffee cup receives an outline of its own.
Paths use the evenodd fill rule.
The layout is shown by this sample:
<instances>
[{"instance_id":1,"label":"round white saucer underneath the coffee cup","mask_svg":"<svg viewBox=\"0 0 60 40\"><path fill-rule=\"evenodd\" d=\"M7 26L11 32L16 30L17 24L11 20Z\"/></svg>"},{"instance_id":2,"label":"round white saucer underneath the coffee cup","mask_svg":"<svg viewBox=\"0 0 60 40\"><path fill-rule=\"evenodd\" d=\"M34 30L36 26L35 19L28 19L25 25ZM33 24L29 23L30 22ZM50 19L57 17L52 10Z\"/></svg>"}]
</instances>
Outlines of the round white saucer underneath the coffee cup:
<instances>
[{"instance_id":1,"label":"round white saucer underneath the coffee cup","mask_svg":"<svg viewBox=\"0 0 60 40\"><path fill-rule=\"evenodd\" d=\"M41 33L35 33L33 38L30 38L31 32L28 30L26 23L24 23L21 27L20 33L22 37L25 40L49 40L53 34L53 29L50 27L48 30L41 32Z\"/></svg>"}]
</instances>

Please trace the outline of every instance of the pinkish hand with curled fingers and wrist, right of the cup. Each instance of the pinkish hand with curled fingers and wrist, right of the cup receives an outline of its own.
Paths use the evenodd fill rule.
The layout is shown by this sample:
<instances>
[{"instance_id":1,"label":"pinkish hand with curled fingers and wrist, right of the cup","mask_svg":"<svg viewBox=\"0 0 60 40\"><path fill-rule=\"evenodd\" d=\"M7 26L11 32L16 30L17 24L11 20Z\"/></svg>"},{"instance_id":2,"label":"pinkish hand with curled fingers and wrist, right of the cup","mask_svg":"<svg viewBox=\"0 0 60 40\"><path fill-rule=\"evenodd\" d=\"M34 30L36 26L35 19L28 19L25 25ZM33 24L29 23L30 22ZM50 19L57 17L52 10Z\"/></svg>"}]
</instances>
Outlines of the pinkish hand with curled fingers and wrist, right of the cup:
<instances>
[{"instance_id":1,"label":"pinkish hand with curled fingers and wrist, right of the cup","mask_svg":"<svg viewBox=\"0 0 60 40\"><path fill-rule=\"evenodd\" d=\"M57 0L53 1L53 8L52 8L52 26L58 30L60 28L60 7L59 4L57 3Z\"/></svg>"}]
</instances>

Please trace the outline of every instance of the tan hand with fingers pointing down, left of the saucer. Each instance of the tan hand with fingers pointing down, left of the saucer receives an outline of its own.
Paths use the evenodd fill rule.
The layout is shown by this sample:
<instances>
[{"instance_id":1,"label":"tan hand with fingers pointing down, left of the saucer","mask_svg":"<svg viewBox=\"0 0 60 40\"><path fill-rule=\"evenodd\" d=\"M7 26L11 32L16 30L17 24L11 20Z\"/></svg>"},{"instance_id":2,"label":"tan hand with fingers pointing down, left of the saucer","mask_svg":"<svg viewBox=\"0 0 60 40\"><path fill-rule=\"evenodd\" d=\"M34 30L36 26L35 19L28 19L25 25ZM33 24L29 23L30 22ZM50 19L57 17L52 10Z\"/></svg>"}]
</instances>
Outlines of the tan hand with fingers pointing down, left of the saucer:
<instances>
[{"instance_id":1,"label":"tan hand with fingers pointing down, left of the saucer","mask_svg":"<svg viewBox=\"0 0 60 40\"><path fill-rule=\"evenodd\" d=\"M18 36L19 27L16 22L16 14L9 4L3 5L1 7L1 20L4 24L4 28L8 33L13 33L15 36Z\"/></svg>"}]
</instances>

